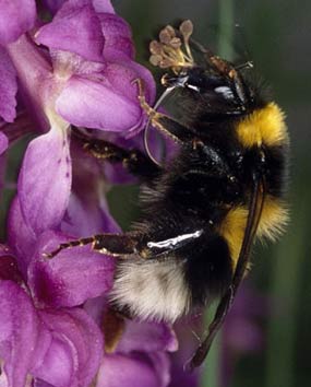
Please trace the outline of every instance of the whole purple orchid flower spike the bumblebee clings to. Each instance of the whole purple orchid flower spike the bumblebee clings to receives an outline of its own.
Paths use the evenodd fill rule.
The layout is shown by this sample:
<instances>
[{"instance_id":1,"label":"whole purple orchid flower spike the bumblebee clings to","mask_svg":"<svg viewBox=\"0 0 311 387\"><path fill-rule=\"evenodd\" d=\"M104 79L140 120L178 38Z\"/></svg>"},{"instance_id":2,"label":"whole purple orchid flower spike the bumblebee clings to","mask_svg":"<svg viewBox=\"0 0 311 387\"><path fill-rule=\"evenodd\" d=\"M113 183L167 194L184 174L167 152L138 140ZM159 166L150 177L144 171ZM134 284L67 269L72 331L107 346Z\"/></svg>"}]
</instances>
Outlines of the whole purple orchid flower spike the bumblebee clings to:
<instances>
[{"instance_id":1,"label":"whole purple orchid flower spike the bumblebee clings to","mask_svg":"<svg viewBox=\"0 0 311 387\"><path fill-rule=\"evenodd\" d=\"M36 20L34 1L17 9L0 0L0 151L16 133L37 136L24 155L0 248L0 385L112 387L140 378L142 387L166 387L166 352L177 349L167 325L127 321L115 351L104 352L113 259L89 246L44 255L81 235L120 232L103 191L107 171L71 141L70 127L109 132L125 148L137 143L145 117L133 81L144 81L148 103L154 81L134 61L130 28L110 1L44 3L50 23ZM27 119L19 120L21 104ZM117 169L112 175L122 180Z\"/></svg>"}]
</instances>

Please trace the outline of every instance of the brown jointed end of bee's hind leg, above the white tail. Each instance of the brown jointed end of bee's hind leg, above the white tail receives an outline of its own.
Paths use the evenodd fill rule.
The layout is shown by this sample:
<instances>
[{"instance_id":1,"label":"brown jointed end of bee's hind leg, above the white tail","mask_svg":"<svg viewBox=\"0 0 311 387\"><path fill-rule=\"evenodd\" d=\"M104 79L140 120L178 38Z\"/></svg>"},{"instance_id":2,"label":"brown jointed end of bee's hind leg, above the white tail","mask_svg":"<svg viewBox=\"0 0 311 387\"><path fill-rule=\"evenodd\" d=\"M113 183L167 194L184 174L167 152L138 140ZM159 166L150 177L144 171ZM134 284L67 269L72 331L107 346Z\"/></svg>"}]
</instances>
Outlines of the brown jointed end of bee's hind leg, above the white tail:
<instances>
[{"instance_id":1,"label":"brown jointed end of bee's hind leg, above the white tail","mask_svg":"<svg viewBox=\"0 0 311 387\"><path fill-rule=\"evenodd\" d=\"M46 258L53 258L60 251L76 247L92 245L92 249L101 254L107 254L112 257L122 257L129 255L143 255L141 239L134 234L97 234L86 238L70 241L60 244L55 250L46 253Z\"/></svg>"}]
</instances>

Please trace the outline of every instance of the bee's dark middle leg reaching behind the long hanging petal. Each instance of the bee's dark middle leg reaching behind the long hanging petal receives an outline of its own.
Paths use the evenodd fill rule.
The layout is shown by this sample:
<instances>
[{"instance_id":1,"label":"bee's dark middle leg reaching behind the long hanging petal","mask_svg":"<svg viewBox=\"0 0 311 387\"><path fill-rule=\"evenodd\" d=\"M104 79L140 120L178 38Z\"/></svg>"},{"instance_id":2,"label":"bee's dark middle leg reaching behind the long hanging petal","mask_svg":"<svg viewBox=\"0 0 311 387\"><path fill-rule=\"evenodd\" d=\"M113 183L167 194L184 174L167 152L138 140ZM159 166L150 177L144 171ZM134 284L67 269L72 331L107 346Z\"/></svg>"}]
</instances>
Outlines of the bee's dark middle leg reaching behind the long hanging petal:
<instances>
[{"instance_id":1,"label":"bee's dark middle leg reaching behind the long hanging petal","mask_svg":"<svg viewBox=\"0 0 311 387\"><path fill-rule=\"evenodd\" d=\"M77 129L73 130L73 136L95 159L109 163L122 163L131 174L137 177L149 179L160 172L160 167L139 150L125 150L105 140L87 138Z\"/></svg>"}]
</instances>

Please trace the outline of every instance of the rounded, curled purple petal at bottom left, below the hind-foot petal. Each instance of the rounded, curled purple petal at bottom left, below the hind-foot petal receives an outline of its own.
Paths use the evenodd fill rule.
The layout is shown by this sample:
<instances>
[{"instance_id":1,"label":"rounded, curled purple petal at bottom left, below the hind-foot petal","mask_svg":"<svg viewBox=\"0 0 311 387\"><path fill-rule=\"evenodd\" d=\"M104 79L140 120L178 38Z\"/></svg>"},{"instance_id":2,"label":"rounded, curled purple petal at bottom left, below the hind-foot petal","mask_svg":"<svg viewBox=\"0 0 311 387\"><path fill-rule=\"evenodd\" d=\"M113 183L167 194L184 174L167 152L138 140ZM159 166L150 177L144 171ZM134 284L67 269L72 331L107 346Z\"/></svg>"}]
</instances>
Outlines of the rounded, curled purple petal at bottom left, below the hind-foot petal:
<instances>
[{"instance_id":1,"label":"rounded, curled purple petal at bottom left, below the hind-foot petal","mask_svg":"<svg viewBox=\"0 0 311 387\"><path fill-rule=\"evenodd\" d=\"M39 316L51 337L48 347L44 338L47 350L44 357L37 354L33 375L56 387L88 386L103 356L97 325L82 309L43 310Z\"/></svg>"}]
</instances>

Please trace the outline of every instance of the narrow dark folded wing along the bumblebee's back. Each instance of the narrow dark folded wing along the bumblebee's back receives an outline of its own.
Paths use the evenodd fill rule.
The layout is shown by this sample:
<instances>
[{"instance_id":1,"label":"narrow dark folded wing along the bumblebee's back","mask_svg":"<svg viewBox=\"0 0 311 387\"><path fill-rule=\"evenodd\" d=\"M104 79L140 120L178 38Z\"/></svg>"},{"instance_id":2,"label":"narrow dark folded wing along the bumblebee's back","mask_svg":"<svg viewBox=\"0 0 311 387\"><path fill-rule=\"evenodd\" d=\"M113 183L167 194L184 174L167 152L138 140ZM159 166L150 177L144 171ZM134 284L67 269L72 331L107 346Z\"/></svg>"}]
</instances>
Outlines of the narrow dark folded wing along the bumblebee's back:
<instances>
[{"instance_id":1,"label":"narrow dark folded wing along the bumblebee's back","mask_svg":"<svg viewBox=\"0 0 311 387\"><path fill-rule=\"evenodd\" d=\"M187 367L190 371L193 370L194 367L200 366L204 361L204 359L206 357L210 348L212 345L212 342L217 331L222 327L225 317L232 305L238 288L248 268L250 250L261 219L264 198L265 198L265 184L259 176L254 175L253 189L251 192L251 199L249 204L248 221L247 221L244 236L243 236L236 271L234 274L234 279L227 292L222 297L218 304L214 319L208 326L208 332L206 338L200 344L200 347L198 348L198 350L195 351L195 353L187 364Z\"/></svg>"}]
</instances>

